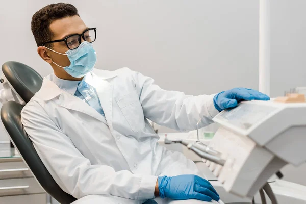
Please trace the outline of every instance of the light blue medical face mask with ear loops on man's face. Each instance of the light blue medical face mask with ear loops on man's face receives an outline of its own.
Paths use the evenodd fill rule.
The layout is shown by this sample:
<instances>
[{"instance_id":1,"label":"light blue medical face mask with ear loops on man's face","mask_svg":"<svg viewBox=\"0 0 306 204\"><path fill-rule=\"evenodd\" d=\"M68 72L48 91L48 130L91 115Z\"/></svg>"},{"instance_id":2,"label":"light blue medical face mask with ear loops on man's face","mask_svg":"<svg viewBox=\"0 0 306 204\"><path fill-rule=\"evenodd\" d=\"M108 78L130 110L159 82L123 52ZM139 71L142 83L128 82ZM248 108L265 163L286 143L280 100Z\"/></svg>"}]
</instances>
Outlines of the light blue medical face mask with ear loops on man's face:
<instances>
[{"instance_id":1,"label":"light blue medical face mask with ear loops on man's face","mask_svg":"<svg viewBox=\"0 0 306 204\"><path fill-rule=\"evenodd\" d=\"M48 47L45 47L49 49ZM55 53L55 50L52 50ZM61 55L67 55L68 59L70 60L70 65L66 67L62 67L55 62L57 66L63 68L68 74L70 74L74 78L81 78L84 77L87 73L91 72L94 68L94 65L97 61L96 52L92 47L92 44L84 41L80 44L77 49L69 49L66 54L58 53Z\"/></svg>"}]
</instances>

